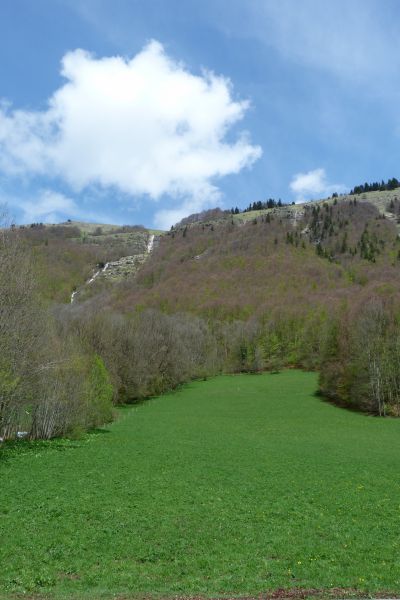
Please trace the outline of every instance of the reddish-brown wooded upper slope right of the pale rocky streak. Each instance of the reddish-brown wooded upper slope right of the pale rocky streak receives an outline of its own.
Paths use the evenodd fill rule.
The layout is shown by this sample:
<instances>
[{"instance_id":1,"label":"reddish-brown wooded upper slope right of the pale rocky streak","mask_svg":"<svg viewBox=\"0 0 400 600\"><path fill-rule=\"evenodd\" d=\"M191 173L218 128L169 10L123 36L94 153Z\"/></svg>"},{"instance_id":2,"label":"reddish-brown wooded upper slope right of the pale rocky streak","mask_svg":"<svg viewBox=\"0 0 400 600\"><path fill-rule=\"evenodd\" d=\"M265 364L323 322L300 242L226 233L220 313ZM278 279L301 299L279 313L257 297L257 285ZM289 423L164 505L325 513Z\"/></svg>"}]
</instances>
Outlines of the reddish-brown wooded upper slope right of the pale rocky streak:
<instances>
[{"instance_id":1,"label":"reddish-brown wooded upper slope right of the pale rocky streak","mask_svg":"<svg viewBox=\"0 0 400 600\"><path fill-rule=\"evenodd\" d=\"M124 310L140 305L247 319L283 307L331 310L382 286L399 292L397 216L385 216L382 198L367 200L271 209L246 215L244 223L225 216L177 226L135 280L111 291L110 302Z\"/></svg>"}]
</instances>

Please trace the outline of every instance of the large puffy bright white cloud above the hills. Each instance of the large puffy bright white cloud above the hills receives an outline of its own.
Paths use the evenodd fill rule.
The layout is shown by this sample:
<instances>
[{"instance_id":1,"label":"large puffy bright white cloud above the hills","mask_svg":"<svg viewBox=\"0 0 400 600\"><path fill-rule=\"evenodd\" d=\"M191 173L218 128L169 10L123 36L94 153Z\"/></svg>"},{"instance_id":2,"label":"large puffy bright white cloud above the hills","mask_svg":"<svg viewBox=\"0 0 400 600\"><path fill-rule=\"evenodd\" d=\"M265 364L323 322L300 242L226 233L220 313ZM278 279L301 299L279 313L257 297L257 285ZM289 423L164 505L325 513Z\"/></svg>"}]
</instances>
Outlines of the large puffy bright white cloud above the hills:
<instances>
[{"instance_id":1,"label":"large puffy bright white cloud above the hills","mask_svg":"<svg viewBox=\"0 0 400 600\"><path fill-rule=\"evenodd\" d=\"M149 43L132 59L83 50L62 60L67 80L45 111L0 107L0 169L8 175L60 177L74 190L115 187L205 206L216 180L261 155L248 136L226 134L249 103L228 79L193 75ZM165 220L165 209L162 215Z\"/></svg>"}]
</instances>

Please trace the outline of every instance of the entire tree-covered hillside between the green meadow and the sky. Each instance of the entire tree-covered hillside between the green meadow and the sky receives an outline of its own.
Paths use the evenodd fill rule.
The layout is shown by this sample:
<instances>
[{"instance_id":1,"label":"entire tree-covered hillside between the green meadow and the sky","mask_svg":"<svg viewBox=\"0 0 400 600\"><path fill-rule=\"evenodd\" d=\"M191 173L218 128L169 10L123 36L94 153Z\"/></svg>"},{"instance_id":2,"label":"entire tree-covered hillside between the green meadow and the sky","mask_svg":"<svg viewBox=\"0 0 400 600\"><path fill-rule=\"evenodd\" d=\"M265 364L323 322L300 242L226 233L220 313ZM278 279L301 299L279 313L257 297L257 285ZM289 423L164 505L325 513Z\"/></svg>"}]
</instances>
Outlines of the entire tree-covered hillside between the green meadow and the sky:
<instances>
[{"instance_id":1,"label":"entire tree-covered hillside between the green meadow and the sky","mask_svg":"<svg viewBox=\"0 0 400 600\"><path fill-rule=\"evenodd\" d=\"M399 415L398 198L208 211L164 235L4 227L0 436L79 434L191 378L294 366L337 403Z\"/></svg>"}]
</instances>

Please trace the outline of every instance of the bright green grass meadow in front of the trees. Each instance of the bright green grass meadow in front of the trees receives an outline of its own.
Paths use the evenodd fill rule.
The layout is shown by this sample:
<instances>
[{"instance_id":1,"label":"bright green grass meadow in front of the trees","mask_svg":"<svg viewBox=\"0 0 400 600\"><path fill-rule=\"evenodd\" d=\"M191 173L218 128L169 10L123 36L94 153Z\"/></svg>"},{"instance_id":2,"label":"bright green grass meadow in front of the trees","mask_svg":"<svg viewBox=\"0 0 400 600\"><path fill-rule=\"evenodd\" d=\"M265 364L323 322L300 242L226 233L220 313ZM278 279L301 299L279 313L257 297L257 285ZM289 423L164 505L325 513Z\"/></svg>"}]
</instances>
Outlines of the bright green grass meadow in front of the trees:
<instances>
[{"instance_id":1,"label":"bright green grass meadow in front of the trees","mask_svg":"<svg viewBox=\"0 0 400 600\"><path fill-rule=\"evenodd\" d=\"M1 450L0 597L399 593L400 421L316 387L223 376Z\"/></svg>"}]
</instances>

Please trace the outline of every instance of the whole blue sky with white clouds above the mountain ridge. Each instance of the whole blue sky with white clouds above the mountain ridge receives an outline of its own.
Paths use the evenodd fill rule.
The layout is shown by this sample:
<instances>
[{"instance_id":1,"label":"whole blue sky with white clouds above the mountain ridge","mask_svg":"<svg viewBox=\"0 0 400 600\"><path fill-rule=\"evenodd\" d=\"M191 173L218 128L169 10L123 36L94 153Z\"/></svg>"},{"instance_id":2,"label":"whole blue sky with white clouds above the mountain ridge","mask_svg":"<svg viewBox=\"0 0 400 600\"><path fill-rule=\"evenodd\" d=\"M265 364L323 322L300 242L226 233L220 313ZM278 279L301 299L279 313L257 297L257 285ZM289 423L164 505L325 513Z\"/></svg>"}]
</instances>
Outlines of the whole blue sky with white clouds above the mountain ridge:
<instances>
[{"instance_id":1,"label":"whole blue sky with white clouds above the mountain ridge","mask_svg":"<svg viewBox=\"0 0 400 600\"><path fill-rule=\"evenodd\" d=\"M1 0L0 204L168 229L399 178L398 0Z\"/></svg>"}]
</instances>

